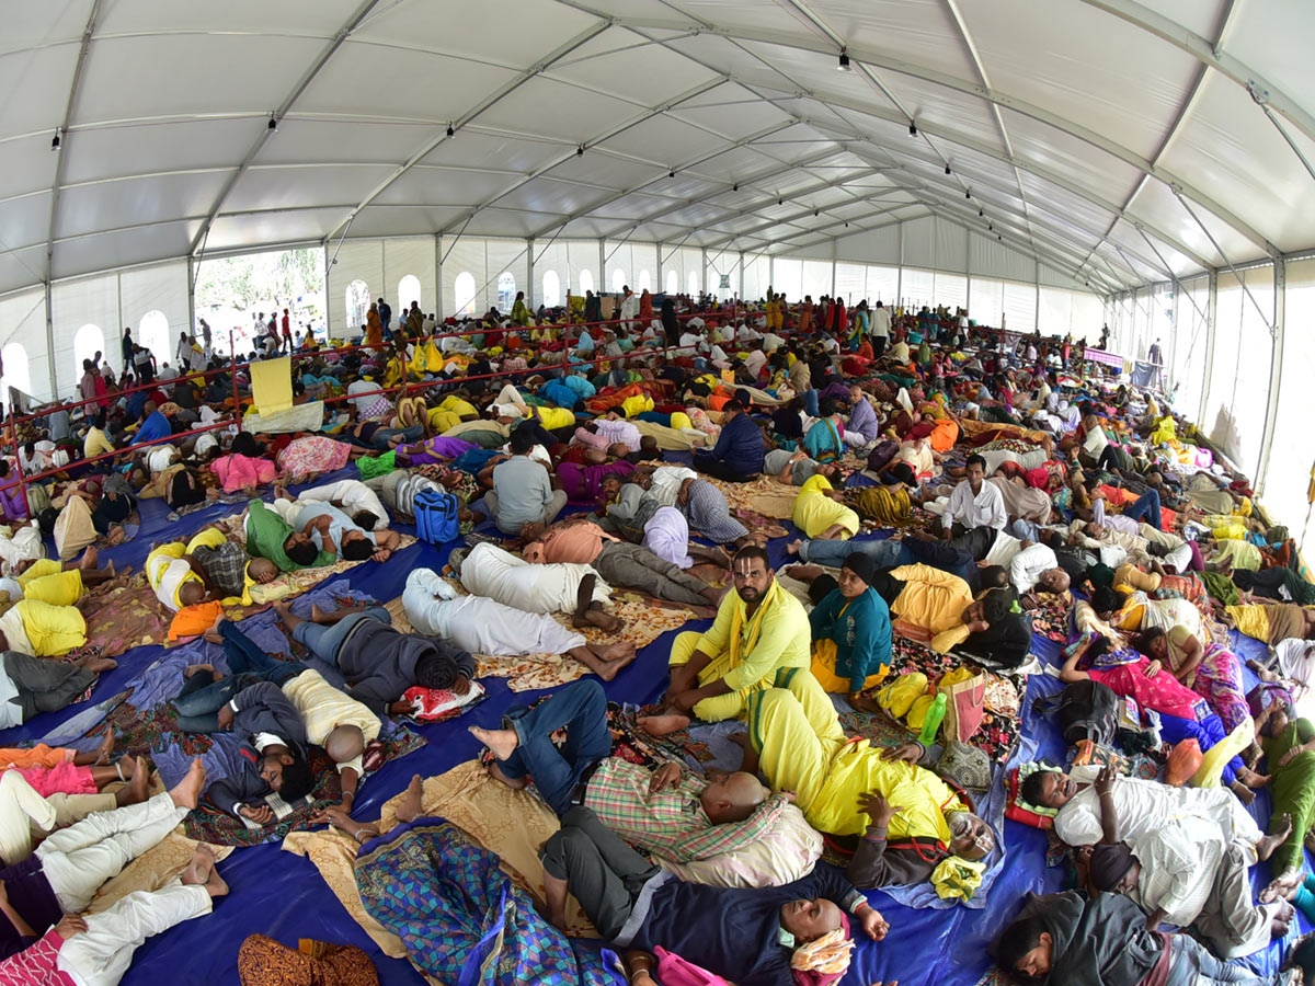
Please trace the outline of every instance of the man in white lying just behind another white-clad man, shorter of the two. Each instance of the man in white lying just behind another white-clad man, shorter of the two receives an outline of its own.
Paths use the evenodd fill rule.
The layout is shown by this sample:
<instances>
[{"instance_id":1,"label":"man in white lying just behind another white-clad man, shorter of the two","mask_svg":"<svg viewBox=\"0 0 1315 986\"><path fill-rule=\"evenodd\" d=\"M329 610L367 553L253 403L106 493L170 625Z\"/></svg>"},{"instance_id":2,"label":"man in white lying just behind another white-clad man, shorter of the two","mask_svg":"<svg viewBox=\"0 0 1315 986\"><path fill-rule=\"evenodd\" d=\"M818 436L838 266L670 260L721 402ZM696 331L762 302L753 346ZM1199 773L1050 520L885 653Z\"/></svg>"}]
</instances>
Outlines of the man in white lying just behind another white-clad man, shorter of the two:
<instances>
[{"instance_id":1,"label":"man in white lying just behind another white-clad man, shorter of the two","mask_svg":"<svg viewBox=\"0 0 1315 986\"><path fill-rule=\"evenodd\" d=\"M609 634L623 626L602 609L611 598L611 588L589 565L531 565L488 542L476 544L464 557L454 551L451 564L473 596L488 596L526 613L573 613L576 626L596 626Z\"/></svg>"}]
</instances>

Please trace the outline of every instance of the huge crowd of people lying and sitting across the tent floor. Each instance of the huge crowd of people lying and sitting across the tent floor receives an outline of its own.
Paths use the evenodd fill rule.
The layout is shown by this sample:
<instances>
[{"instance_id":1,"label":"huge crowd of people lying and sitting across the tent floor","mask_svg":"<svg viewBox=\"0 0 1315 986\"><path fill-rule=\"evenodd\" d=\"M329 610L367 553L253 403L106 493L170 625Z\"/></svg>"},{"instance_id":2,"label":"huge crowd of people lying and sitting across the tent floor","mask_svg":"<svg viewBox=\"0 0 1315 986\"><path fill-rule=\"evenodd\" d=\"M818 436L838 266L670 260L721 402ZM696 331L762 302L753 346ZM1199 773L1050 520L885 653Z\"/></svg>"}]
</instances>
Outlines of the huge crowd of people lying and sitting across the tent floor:
<instances>
[{"instance_id":1,"label":"huge crowd of people lying and sitting across the tent floor","mask_svg":"<svg viewBox=\"0 0 1315 986\"><path fill-rule=\"evenodd\" d=\"M237 423L255 363L212 358L201 326L172 368L125 331L135 389L97 354L85 405L20 425L24 476L0 476L0 727L39 735L43 714L82 701L122 656L83 651L96 593L130 576L105 559L150 527L143 501L162 500L180 530L231 504L233 523L154 543L141 576L171 640L222 653L187 668L178 728L229 732L242 757L209 782L197 760L147 797L145 751L112 764L112 732L95 751L0 751L0 982L118 982L141 941L206 914L226 886L203 845L164 887L79 916L97 887L201 801L272 827L323 763L338 797L316 822L360 844L366 911L443 981L488 958L493 915L510 920L498 901L515 899L487 981L551 968L554 982L619 982L564 937L573 897L631 983L706 970L828 986L860 941L899 935L867 891L986 893L1006 828L982 787L1002 784L1010 818L1068 847L1074 887L1009 923L992 951L1006 978L1189 986L1306 970L1304 945L1266 975L1235 960L1290 941L1298 910L1315 918L1303 860L1315 726L1297 714L1315 668L1315 584L1245 477L1162 393L1089 363L1085 340L771 289L751 305L626 288L531 310L518 296L510 313L443 325L416 304L394 319L380 298L345 347L295 339L287 310L271 316L252 360L292 356L293 410L322 417L251 433ZM446 534L426 535L442 510ZM451 555L400 561L397 527L413 525ZM352 563L409 567L409 626L387 599L293 613L270 590ZM618 590L710 622L636 653ZM231 615L263 603L305 660L271 656ZM1035 644L1045 626L1063 646L1057 684ZM1268 657L1244 660L1235 632ZM972 793L945 753L988 760L960 718L973 710L955 706L956 732L939 731L930 710L959 693L910 652L960 680L1034 676L1081 761L1003 751ZM531 907L489 847L426 818L419 777L392 827L354 805L383 763L381 731L416 713L417 692L459 703L479 686L475 655L543 653L586 673L502 710L500 728L471 727L489 776L559 819L535 847L544 893ZM739 723L734 769L636 764L618 745L601 682L636 660L667 669L636 735L669 751L690 730ZM1038 697L1022 690L1015 723ZM856 738L853 716L901 740ZM1268 833L1248 810L1261 790ZM738 880L680 869L755 847L769 861ZM1258 864L1272 880L1257 901ZM416 894L427 916L397 906ZM443 937L434 923L475 933ZM238 968L246 986L293 970L377 981L359 949L299 953L258 935Z\"/></svg>"}]
</instances>

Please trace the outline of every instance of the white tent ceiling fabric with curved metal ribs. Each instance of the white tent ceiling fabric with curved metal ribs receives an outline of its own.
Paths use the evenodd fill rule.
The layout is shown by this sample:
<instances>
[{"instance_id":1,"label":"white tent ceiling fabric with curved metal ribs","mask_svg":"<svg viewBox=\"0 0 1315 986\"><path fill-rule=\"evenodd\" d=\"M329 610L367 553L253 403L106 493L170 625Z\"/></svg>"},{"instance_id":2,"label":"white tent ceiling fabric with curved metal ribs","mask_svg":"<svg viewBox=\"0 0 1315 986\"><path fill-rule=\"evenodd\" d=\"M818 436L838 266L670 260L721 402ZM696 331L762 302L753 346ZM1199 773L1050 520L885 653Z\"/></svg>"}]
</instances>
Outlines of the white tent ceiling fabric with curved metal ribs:
<instances>
[{"instance_id":1,"label":"white tent ceiling fabric with curved metal ribs","mask_svg":"<svg viewBox=\"0 0 1315 986\"><path fill-rule=\"evenodd\" d=\"M1315 4L28 0L5 21L0 293L345 234L800 252L936 214L1099 293L1315 247Z\"/></svg>"}]
</instances>

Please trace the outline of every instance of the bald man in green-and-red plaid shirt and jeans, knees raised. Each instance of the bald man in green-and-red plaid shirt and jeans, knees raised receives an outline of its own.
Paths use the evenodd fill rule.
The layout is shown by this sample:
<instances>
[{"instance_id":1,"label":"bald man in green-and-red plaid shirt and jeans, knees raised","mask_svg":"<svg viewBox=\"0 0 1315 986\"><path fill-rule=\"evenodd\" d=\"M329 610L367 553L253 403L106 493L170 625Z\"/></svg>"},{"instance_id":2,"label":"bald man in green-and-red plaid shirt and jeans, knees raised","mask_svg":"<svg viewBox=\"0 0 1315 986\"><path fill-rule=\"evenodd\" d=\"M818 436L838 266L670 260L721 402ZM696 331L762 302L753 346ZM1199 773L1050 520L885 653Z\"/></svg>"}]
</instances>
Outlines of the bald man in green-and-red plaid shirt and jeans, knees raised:
<instances>
[{"instance_id":1,"label":"bald man in green-and-red plaid shirt and jeans, knees raised","mask_svg":"<svg viewBox=\"0 0 1315 986\"><path fill-rule=\"evenodd\" d=\"M510 787L525 787L533 777L558 815L584 805L626 841L675 862L748 845L771 828L784 803L769 801L753 774L709 782L685 777L679 764L650 772L608 756L608 697L597 681L577 681L533 709L513 706L502 722L501 730L471 727L497 757L489 766L493 777ZM559 749L552 734L562 728L567 739ZM751 816L757 824L727 824Z\"/></svg>"}]
</instances>

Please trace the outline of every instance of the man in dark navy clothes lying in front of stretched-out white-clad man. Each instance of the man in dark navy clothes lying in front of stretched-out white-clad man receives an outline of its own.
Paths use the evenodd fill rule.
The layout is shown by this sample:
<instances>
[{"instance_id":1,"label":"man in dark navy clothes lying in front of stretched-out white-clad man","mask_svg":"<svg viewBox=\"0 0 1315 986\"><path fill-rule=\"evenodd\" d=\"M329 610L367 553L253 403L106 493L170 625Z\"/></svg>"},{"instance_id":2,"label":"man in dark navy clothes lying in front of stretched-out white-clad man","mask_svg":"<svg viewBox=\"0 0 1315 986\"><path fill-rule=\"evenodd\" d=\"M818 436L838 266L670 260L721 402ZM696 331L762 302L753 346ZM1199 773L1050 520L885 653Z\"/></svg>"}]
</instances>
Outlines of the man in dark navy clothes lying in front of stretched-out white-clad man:
<instances>
[{"instance_id":1,"label":"man in dark navy clothes lying in front of stretched-out white-clad man","mask_svg":"<svg viewBox=\"0 0 1315 986\"><path fill-rule=\"evenodd\" d=\"M274 603L293 639L320 660L337 665L347 680L347 694L371 711L412 711L402 695L418 685L451 689L458 695L471 690L475 659L442 640L402 634L392 626L383 606L346 606L334 613L310 607L310 619L295 617L288 603Z\"/></svg>"}]
</instances>

